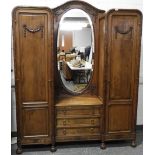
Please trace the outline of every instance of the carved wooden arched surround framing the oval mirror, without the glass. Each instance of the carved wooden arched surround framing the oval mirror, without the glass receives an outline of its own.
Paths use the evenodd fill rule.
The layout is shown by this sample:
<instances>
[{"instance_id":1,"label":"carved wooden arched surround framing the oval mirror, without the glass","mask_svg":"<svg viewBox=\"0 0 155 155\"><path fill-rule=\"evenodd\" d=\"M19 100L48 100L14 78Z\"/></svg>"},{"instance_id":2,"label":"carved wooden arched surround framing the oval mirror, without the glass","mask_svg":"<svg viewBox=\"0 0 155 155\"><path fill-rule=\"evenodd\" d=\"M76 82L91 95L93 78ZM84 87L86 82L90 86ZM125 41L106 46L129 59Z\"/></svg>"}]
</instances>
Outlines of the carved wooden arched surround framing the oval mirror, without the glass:
<instances>
[{"instance_id":1,"label":"carved wooden arched surround framing the oval mirror, without the glass","mask_svg":"<svg viewBox=\"0 0 155 155\"><path fill-rule=\"evenodd\" d=\"M62 16L71 9L80 9L87 13L92 21L92 33L94 35L94 64L93 64L93 72L91 73L91 78L89 80L88 85L82 89L81 92L73 92L67 89L62 80L60 73L57 69L57 36L59 31L59 22ZM97 95L97 87L98 87L98 28L99 28L99 15L100 13L105 13L104 10L100 10L95 8L94 6L83 2L83 1L69 1L66 2L55 9L53 9L54 13L54 77L55 77L55 95Z\"/></svg>"}]
</instances>

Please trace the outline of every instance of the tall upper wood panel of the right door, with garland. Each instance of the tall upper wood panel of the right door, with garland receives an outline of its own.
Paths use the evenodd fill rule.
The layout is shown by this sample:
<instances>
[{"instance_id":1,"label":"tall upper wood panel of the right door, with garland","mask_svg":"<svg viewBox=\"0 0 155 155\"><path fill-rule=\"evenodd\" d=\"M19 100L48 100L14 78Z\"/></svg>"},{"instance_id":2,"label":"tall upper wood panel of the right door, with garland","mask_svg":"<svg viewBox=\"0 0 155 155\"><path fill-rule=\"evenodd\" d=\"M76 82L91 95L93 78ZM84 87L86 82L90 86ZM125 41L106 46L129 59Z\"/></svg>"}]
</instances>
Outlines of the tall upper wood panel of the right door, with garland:
<instances>
[{"instance_id":1,"label":"tall upper wood panel of the right door, with garland","mask_svg":"<svg viewBox=\"0 0 155 155\"><path fill-rule=\"evenodd\" d=\"M111 19L109 99L131 99L134 77L137 20L130 16Z\"/></svg>"}]
</instances>

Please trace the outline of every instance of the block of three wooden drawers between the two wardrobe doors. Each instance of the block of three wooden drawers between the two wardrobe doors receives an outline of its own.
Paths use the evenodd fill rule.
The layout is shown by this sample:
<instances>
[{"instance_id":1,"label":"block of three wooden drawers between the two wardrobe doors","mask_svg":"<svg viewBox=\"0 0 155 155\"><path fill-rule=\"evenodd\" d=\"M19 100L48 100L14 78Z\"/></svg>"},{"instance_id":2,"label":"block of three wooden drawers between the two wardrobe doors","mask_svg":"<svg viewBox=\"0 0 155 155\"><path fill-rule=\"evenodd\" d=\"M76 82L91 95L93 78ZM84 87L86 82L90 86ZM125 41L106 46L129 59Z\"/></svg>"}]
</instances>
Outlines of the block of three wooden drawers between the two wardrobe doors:
<instances>
[{"instance_id":1,"label":"block of three wooden drawers between the two wardrobe doors","mask_svg":"<svg viewBox=\"0 0 155 155\"><path fill-rule=\"evenodd\" d=\"M56 141L100 139L101 105L56 106Z\"/></svg>"}]
</instances>

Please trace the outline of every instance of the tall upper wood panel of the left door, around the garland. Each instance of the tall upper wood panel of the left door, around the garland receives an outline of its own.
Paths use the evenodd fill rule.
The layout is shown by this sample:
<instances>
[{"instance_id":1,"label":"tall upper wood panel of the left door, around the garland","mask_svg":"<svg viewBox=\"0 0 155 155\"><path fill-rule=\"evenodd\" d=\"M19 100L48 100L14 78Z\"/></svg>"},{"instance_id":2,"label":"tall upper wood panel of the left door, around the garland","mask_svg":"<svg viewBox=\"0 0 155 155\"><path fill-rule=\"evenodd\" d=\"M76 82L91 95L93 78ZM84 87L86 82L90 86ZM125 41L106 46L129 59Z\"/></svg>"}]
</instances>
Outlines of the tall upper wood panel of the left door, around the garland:
<instances>
[{"instance_id":1,"label":"tall upper wood panel of the left door, around the garland","mask_svg":"<svg viewBox=\"0 0 155 155\"><path fill-rule=\"evenodd\" d=\"M24 102L46 101L48 97L47 23L47 17L43 14L34 13L30 16L23 13L19 17L20 71ZM44 32L31 33L25 30L25 25L30 27L29 29L34 29L33 31L42 25Z\"/></svg>"}]
</instances>

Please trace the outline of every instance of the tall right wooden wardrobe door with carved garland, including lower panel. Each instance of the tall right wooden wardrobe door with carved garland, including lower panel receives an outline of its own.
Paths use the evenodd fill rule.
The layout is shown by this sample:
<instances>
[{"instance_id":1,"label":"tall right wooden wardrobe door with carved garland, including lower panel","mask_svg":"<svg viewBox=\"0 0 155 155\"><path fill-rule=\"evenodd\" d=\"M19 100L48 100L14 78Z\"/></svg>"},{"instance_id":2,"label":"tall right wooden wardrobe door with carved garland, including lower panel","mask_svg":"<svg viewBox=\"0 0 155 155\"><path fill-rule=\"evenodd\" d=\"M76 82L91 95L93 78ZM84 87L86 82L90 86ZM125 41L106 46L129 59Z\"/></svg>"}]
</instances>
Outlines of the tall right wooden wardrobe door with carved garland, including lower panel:
<instances>
[{"instance_id":1,"label":"tall right wooden wardrobe door with carved garland, including lower panel","mask_svg":"<svg viewBox=\"0 0 155 155\"><path fill-rule=\"evenodd\" d=\"M107 139L135 138L141 18L137 10L107 13Z\"/></svg>"}]
</instances>

